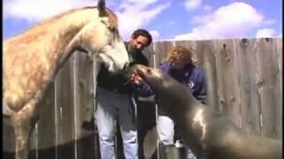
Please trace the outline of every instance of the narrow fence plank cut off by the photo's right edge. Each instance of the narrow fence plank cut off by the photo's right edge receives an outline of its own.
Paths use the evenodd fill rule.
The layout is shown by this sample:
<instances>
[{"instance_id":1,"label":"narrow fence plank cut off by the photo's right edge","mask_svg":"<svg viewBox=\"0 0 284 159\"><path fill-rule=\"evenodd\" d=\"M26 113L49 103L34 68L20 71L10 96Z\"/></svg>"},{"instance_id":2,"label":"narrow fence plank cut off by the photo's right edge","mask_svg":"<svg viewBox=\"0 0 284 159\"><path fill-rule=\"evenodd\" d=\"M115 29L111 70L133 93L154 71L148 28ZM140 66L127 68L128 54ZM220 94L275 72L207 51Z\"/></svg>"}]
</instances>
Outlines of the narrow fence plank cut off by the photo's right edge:
<instances>
[{"instance_id":1,"label":"narrow fence plank cut off by the photo's right edge","mask_svg":"<svg viewBox=\"0 0 284 159\"><path fill-rule=\"evenodd\" d=\"M276 121L276 127L277 127L277 139L282 140L283 139L283 43L282 38L276 38L276 51L277 51L277 59L278 59L278 68L280 72L280 102L277 106L277 121Z\"/></svg>"}]
</instances>

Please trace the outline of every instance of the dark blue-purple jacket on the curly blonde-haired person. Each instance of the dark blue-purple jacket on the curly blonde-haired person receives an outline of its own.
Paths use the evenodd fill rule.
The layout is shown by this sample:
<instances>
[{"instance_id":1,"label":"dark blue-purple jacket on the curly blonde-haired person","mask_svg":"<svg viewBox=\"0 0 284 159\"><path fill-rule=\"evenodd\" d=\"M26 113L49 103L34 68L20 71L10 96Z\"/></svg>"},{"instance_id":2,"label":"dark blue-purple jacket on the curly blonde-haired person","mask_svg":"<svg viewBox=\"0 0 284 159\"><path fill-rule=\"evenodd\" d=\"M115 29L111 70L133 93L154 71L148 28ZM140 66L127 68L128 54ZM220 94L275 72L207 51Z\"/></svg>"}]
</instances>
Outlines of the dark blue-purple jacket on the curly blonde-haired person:
<instances>
[{"instance_id":1,"label":"dark blue-purple jacket on the curly blonde-haired person","mask_svg":"<svg viewBox=\"0 0 284 159\"><path fill-rule=\"evenodd\" d=\"M207 92L206 80L201 68L194 64L185 64L183 69L177 70L170 68L170 62L165 62L160 65L160 69L188 87L195 98L205 102Z\"/></svg>"}]
</instances>

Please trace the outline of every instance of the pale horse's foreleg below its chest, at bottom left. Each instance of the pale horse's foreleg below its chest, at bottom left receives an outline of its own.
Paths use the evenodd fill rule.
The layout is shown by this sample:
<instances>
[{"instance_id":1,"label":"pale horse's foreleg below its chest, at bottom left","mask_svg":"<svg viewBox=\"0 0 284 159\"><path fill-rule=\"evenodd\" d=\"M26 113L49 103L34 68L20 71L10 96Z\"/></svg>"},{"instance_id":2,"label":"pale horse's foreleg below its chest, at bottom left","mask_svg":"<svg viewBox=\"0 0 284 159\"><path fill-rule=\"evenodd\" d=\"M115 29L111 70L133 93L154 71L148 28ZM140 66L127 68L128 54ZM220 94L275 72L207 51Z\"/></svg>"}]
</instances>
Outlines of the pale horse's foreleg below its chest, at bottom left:
<instances>
[{"instance_id":1,"label":"pale horse's foreleg below its chest, at bottom left","mask_svg":"<svg viewBox=\"0 0 284 159\"><path fill-rule=\"evenodd\" d=\"M36 125L35 105L27 105L13 114L15 133L15 159L28 159L30 135Z\"/></svg>"}]
</instances>

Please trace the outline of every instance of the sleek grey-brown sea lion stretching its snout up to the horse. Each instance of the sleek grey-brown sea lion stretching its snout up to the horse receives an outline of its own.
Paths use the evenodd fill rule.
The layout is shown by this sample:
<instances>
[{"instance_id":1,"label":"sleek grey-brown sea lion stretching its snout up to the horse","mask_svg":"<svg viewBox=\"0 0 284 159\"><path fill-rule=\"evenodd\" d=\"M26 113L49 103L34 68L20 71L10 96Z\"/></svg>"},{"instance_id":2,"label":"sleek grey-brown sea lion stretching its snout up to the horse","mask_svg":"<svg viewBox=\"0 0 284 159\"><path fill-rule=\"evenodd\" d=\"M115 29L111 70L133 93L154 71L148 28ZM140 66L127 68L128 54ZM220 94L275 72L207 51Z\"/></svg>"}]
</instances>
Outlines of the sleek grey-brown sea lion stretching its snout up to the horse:
<instances>
[{"instance_id":1,"label":"sleek grey-brown sea lion stretching its snout up to the horse","mask_svg":"<svg viewBox=\"0 0 284 159\"><path fill-rule=\"evenodd\" d=\"M241 131L227 117L196 100L187 87L158 69L135 65L155 92L161 109L170 113L185 144L195 155L212 159L280 159L282 143Z\"/></svg>"}]
</instances>

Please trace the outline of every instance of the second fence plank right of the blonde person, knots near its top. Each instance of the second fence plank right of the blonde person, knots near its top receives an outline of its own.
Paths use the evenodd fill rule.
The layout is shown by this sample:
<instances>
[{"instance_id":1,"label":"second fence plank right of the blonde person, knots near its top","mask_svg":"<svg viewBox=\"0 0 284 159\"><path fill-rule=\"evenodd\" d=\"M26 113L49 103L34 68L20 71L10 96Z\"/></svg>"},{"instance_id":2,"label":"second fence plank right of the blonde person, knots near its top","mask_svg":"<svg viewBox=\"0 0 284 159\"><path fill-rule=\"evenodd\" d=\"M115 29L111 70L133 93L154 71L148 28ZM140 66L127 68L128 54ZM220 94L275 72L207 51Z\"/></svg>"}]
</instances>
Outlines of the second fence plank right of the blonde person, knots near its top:
<instances>
[{"instance_id":1,"label":"second fence plank right of the blonde person, knots near its top","mask_svg":"<svg viewBox=\"0 0 284 159\"><path fill-rule=\"evenodd\" d=\"M235 56L233 40L217 41L217 87L220 110L234 124L241 127L240 105L237 103Z\"/></svg>"}]
</instances>

